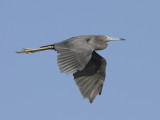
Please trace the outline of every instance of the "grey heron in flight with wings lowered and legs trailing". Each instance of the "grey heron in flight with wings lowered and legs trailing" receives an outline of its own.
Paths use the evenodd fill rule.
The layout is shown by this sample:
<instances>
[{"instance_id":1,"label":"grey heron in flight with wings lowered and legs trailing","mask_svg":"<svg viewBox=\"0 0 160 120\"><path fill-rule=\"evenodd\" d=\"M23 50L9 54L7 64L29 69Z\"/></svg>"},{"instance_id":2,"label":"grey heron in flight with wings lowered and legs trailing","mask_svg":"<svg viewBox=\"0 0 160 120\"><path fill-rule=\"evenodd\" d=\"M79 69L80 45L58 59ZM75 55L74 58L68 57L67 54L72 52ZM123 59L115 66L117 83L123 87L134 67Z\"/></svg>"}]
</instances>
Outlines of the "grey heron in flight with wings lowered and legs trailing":
<instances>
[{"instance_id":1,"label":"grey heron in flight with wings lowered and legs trailing","mask_svg":"<svg viewBox=\"0 0 160 120\"><path fill-rule=\"evenodd\" d=\"M55 50L62 73L73 74L83 98L90 103L101 95L106 76L106 60L96 51L107 48L109 41L125 40L106 35L79 35L61 42L31 49L24 48L17 53L34 53Z\"/></svg>"}]
</instances>

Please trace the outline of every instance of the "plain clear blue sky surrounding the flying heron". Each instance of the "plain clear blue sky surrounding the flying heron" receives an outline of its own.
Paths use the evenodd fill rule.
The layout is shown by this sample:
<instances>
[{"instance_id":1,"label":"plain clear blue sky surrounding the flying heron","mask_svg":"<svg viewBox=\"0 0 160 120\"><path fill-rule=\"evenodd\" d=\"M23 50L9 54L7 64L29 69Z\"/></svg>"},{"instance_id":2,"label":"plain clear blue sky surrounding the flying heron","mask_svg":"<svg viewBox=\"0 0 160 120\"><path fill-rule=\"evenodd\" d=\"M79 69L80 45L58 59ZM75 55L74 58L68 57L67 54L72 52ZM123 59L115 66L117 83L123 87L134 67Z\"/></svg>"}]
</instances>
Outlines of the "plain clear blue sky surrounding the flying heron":
<instances>
[{"instance_id":1,"label":"plain clear blue sky surrounding the flying heron","mask_svg":"<svg viewBox=\"0 0 160 120\"><path fill-rule=\"evenodd\" d=\"M0 0L0 120L160 120L159 0ZM101 96L83 99L55 51L16 54L76 35L123 37Z\"/></svg>"}]
</instances>

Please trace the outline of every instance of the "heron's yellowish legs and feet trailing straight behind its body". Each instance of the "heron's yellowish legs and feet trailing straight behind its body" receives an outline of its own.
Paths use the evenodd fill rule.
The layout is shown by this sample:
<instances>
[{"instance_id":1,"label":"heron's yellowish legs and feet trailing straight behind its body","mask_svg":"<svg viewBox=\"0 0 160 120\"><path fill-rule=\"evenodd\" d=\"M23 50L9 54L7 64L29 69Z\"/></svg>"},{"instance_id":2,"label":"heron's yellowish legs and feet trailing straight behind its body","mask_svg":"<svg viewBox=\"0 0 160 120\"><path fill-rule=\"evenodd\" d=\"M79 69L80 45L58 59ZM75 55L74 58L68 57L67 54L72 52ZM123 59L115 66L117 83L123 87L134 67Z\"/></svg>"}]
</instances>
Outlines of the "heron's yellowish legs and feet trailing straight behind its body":
<instances>
[{"instance_id":1,"label":"heron's yellowish legs and feet trailing straight behind its body","mask_svg":"<svg viewBox=\"0 0 160 120\"><path fill-rule=\"evenodd\" d=\"M39 52L42 50L50 50L50 49L55 49L54 44L42 46L42 47L36 48L36 49L24 48L22 51L17 51L16 53L34 53L34 52Z\"/></svg>"}]
</instances>

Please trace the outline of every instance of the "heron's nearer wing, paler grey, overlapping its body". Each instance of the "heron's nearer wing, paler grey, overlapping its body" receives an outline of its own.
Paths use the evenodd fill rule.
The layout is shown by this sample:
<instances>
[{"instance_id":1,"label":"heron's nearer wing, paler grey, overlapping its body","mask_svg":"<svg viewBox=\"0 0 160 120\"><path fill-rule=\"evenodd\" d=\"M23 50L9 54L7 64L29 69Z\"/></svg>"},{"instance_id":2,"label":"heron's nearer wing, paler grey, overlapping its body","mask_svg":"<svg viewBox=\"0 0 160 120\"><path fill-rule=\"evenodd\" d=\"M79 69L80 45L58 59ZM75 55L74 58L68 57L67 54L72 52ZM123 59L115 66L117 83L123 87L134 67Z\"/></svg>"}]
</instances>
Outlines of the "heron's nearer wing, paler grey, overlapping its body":
<instances>
[{"instance_id":1,"label":"heron's nearer wing, paler grey, overlapping its body","mask_svg":"<svg viewBox=\"0 0 160 120\"><path fill-rule=\"evenodd\" d=\"M94 50L86 39L74 37L54 45L59 53L58 65L61 72L70 74L84 69Z\"/></svg>"}]
</instances>

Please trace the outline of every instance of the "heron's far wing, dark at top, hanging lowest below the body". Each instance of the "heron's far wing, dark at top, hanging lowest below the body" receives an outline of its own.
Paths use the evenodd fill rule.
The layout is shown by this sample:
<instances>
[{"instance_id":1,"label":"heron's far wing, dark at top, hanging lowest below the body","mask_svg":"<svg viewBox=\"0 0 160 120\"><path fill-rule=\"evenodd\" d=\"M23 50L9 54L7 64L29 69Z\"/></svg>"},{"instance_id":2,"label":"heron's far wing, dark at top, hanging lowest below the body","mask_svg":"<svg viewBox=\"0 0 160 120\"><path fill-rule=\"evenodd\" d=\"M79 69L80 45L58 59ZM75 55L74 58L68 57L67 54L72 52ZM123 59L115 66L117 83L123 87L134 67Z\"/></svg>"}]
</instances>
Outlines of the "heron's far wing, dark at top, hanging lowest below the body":
<instances>
[{"instance_id":1,"label":"heron's far wing, dark at top, hanging lowest below the body","mask_svg":"<svg viewBox=\"0 0 160 120\"><path fill-rule=\"evenodd\" d=\"M84 98L88 98L91 103L102 92L106 64L106 60L94 51L85 68L73 74L81 94Z\"/></svg>"}]
</instances>

